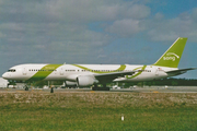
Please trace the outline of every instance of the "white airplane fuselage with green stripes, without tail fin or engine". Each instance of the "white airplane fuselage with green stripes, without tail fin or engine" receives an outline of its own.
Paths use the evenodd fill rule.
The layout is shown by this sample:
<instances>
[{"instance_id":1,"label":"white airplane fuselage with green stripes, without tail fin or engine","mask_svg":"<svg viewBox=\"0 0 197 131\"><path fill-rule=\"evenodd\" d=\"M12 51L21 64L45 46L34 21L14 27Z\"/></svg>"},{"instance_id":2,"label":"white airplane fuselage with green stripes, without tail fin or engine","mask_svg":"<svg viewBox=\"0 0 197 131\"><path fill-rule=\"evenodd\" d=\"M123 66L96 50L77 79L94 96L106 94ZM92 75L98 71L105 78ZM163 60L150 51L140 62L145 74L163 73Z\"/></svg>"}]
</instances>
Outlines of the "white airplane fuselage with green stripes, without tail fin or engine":
<instances>
[{"instance_id":1,"label":"white airplane fuselage with green stripes, without tail fin or engine","mask_svg":"<svg viewBox=\"0 0 197 131\"><path fill-rule=\"evenodd\" d=\"M45 67L45 68L44 68ZM167 78L167 71L177 70L177 68L166 68L157 66L131 66L124 64L20 64L12 67L2 76L7 80L15 81L71 81L76 82L80 75L94 75L100 73L137 71L132 75L117 78L114 81L151 81ZM119 70L118 70L119 69ZM141 71L140 71L141 70Z\"/></svg>"}]
</instances>

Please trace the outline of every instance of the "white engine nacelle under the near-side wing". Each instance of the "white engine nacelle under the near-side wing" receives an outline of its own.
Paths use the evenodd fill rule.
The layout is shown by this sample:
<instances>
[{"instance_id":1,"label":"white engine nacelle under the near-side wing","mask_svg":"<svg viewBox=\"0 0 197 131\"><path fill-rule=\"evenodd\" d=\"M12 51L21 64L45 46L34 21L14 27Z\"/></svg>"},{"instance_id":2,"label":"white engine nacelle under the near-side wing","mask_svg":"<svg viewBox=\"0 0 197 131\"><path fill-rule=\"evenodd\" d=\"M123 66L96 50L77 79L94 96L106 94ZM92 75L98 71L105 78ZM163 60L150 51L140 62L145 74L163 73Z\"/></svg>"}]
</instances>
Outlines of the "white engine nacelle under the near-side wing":
<instances>
[{"instance_id":1,"label":"white engine nacelle under the near-side wing","mask_svg":"<svg viewBox=\"0 0 197 131\"><path fill-rule=\"evenodd\" d=\"M94 79L94 76L81 75L77 78L77 84L79 87L89 87L96 82L97 81Z\"/></svg>"}]
</instances>

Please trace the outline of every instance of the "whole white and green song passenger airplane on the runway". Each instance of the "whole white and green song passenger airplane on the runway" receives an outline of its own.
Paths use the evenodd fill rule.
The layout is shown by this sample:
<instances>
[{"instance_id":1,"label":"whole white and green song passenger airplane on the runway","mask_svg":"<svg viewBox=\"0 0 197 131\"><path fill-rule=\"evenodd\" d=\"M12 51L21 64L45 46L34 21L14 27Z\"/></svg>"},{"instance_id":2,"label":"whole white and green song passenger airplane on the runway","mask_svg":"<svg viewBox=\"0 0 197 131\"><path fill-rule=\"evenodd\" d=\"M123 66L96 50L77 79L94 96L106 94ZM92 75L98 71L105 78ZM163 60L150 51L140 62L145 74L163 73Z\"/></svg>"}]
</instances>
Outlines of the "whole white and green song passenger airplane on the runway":
<instances>
[{"instance_id":1,"label":"whole white and green song passenger airplane on the runway","mask_svg":"<svg viewBox=\"0 0 197 131\"><path fill-rule=\"evenodd\" d=\"M10 68L2 78L9 81L65 81L66 86L103 88L111 82L152 81L186 73L195 68L178 69L187 38L178 37L153 64L44 64L27 63ZM25 90L28 90L27 86Z\"/></svg>"}]
</instances>

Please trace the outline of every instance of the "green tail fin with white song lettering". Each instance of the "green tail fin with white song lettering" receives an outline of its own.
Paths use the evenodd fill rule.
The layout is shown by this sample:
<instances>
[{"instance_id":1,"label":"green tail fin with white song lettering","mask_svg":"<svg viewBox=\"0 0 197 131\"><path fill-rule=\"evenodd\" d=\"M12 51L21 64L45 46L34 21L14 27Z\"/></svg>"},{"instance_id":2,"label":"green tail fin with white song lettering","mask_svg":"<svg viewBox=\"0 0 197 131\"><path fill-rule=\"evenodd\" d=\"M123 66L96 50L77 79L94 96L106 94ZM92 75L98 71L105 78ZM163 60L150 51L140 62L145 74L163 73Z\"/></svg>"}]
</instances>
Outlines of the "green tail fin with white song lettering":
<instances>
[{"instance_id":1,"label":"green tail fin with white song lettering","mask_svg":"<svg viewBox=\"0 0 197 131\"><path fill-rule=\"evenodd\" d=\"M163 53L163 56L153 66L177 68L187 38L177 38L174 41L174 44Z\"/></svg>"}]
</instances>

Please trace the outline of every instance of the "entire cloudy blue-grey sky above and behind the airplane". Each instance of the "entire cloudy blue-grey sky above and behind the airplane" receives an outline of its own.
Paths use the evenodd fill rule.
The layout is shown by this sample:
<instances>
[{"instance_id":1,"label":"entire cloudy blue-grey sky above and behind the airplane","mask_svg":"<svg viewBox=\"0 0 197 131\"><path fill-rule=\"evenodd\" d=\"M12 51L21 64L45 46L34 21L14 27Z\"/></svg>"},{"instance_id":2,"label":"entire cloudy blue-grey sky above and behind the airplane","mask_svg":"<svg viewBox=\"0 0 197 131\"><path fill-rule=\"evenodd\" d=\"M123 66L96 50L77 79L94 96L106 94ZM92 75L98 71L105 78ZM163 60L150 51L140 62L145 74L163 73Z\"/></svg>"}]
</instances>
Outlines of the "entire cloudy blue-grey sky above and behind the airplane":
<instances>
[{"instance_id":1,"label":"entire cloudy blue-grey sky above and behind the airplane","mask_svg":"<svg viewBox=\"0 0 197 131\"><path fill-rule=\"evenodd\" d=\"M0 74L21 63L152 64L177 37L188 38L178 68L197 68L196 0L0 0Z\"/></svg>"}]
</instances>

